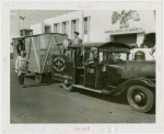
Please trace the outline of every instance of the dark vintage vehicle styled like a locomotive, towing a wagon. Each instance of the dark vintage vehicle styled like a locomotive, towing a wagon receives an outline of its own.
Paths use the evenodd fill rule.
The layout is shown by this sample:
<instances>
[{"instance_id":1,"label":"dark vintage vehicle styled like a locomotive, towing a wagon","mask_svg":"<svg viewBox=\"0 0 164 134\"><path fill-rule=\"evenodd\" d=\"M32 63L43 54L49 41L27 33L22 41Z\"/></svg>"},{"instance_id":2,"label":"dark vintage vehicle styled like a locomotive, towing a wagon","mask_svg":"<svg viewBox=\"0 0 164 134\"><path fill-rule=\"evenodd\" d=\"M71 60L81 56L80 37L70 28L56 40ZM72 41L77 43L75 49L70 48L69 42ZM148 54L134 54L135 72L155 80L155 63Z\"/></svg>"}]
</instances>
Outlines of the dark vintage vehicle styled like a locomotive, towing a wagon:
<instances>
[{"instance_id":1,"label":"dark vintage vehicle styled like a locomotive, towing a wagon","mask_svg":"<svg viewBox=\"0 0 164 134\"><path fill-rule=\"evenodd\" d=\"M52 79L62 81L67 91L80 88L126 94L136 111L154 108L155 62L129 60L130 46L115 42L73 44L68 51L69 55L54 55L52 72Z\"/></svg>"}]
</instances>

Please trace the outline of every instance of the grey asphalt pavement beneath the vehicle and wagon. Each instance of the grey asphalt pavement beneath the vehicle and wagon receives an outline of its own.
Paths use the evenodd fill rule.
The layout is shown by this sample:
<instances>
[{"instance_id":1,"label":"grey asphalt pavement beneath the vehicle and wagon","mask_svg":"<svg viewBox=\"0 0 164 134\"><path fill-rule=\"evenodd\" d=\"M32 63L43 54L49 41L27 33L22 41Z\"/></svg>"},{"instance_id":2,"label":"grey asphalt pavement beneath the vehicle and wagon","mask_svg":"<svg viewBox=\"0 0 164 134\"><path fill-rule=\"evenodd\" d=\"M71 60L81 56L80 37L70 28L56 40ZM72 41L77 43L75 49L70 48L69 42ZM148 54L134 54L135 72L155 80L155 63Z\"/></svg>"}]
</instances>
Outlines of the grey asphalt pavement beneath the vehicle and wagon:
<instances>
[{"instance_id":1,"label":"grey asphalt pavement beneath the vehicle and wagon","mask_svg":"<svg viewBox=\"0 0 164 134\"><path fill-rule=\"evenodd\" d=\"M46 85L49 82L49 85ZM82 89L67 92L49 78L38 85L34 76L17 82L11 60L11 123L154 123L155 113L139 113L121 97L98 94Z\"/></svg>"}]
</instances>

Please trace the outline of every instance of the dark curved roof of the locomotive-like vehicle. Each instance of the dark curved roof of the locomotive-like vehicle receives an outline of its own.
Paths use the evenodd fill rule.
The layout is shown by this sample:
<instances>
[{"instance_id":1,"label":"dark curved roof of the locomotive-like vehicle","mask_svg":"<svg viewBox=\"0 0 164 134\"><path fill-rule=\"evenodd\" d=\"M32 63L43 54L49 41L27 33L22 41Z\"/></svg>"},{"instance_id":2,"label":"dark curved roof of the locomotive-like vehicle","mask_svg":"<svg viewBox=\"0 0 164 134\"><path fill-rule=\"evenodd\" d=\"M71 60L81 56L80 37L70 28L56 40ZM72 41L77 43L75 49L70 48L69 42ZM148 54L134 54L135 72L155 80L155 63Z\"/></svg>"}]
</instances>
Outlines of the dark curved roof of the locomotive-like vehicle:
<instances>
[{"instance_id":1,"label":"dark curved roof of the locomotive-like vehicle","mask_svg":"<svg viewBox=\"0 0 164 134\"><path fill-rule=\"evenodd\" d=\"M104 48L104 47L121 47L121 48L131 48L129 45L124 43L116 43L116 42L96 42L96 43L81 43L81 44L72 44L69 46L70 48L75 47L97 47L97 48Z\"/></svg>"}]
</instances>

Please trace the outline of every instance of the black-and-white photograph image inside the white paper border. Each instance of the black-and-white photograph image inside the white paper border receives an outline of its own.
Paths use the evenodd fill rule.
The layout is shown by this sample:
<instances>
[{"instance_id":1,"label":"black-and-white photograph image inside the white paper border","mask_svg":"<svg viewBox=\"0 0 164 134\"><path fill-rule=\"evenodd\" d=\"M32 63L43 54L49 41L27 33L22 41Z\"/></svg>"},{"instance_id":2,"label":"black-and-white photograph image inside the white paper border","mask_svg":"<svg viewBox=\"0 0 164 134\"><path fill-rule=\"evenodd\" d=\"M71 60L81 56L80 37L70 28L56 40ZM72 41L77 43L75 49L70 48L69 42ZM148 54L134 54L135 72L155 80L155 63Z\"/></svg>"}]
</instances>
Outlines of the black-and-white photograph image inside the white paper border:
<instances>
[{"instance_id":1,"label":"black-and-white photograph image inside the white paper border","mask_svg":"<svg viewBox=\"0 0 164 134\"><path fill-rule=\"evenodd\" d=\"M155 123L155 10L10 10L10 123Z\"/></svg>"}]
</instances>

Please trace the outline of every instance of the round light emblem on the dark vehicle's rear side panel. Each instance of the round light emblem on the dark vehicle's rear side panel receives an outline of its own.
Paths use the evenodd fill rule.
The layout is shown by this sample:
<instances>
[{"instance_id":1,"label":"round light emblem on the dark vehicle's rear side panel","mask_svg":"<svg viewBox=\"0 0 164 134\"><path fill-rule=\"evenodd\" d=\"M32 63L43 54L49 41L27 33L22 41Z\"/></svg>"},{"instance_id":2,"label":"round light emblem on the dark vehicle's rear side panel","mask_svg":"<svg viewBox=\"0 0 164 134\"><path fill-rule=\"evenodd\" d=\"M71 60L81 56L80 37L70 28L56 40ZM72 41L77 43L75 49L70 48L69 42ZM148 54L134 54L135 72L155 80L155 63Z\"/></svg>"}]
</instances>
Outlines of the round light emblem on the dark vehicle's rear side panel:
<instances>
[{"instance_id":1,"label":"round light emblem on the dark vehicle's rear side panel","mask_svg":"<svg viewBox=\"0 0 164 134\"><path fill-rule=\"evenodd\" d=\"M66 68L66 60L62 57L55 57L54 59L54 68L57 71L62 71Z\"/></svg>"}]
</instances>

